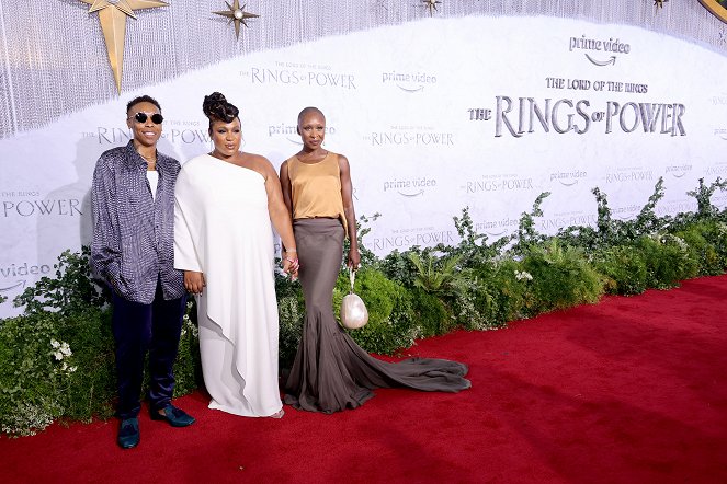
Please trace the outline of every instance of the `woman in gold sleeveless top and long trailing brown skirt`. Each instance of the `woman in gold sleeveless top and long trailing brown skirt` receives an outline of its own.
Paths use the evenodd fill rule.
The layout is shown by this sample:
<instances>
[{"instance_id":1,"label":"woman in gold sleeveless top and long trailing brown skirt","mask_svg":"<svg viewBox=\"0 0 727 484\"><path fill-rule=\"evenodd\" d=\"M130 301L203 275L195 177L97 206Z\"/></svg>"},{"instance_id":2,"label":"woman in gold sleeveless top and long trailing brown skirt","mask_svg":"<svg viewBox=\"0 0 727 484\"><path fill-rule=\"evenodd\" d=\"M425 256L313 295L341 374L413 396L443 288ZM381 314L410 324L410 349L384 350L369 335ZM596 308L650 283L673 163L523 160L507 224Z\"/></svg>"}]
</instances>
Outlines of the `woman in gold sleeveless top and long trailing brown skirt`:
<instances>
[{"instance_id":1,"label":"woman in gold sleeveless top and long trailing brown skirt","mask_svg":"<svg viewBox=\"0 0 727 484\"><path fill-rule=\"evenodd\" d=\"M347 235L348 265L356 269L361 262L349 161L323 149L326 117L317 107L300 112L298 134L303 149L280 170L283 198L293 217L306 301L303 337L285 383L285 403L332 413L360 406L374 396L375 388L447 392L469 388L464 378L467 366L463 364L430 358L380 361L338 325L332 297Z\"/></svg>"}]
</instances>

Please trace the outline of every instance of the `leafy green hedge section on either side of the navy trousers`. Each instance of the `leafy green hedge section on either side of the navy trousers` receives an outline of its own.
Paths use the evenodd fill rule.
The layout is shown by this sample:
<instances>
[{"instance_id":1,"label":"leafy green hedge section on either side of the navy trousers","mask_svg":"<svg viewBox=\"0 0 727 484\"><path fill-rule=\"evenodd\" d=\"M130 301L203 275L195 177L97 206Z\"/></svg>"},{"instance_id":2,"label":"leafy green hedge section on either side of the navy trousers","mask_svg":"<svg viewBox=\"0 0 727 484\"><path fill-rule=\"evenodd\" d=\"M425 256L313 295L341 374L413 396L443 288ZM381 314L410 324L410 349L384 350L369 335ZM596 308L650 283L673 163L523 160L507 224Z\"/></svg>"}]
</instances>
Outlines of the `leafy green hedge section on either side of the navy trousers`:
<instances>
[{"instance_id":1,"label":"leafy green hedge section on either side of the navy trousers","mask_svg":"<svg viewBox=\"0 0 727 484\"><path fill-rule=\"evenodd\" d=\"M112 415L114 341L106 293L90 275L89 250L64 252L56 278L43 277L16 299L24 314L0 321L0 430L32 435L55 419ZM174 364L177 396L201 381L193 302Z\"/></svg>"}]
</instances>

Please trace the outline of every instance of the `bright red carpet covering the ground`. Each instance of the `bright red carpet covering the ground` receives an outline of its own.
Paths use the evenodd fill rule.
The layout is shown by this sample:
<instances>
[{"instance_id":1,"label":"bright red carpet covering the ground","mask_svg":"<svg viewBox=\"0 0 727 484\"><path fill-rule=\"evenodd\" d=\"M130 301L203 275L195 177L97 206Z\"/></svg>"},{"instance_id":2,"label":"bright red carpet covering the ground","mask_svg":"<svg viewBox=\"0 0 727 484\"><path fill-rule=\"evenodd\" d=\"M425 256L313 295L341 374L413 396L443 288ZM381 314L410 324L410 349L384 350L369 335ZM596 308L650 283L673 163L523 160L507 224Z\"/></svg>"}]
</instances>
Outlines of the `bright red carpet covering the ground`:
<instances>
[{"instance_id":1,"label":"bright red carpet covering the ground","mask_svg":"<svg viewBox=\"0 0 727 484\"><path fill-rule=\"evenodd\" d=\"M138 448L116 420L0 438L3 482L727 482L727 276L670 291L420 342L470 365L459 394L378 390L334 415L282 420L177 403L174 429L141 415Z\"/></svg>"}]
</instances>

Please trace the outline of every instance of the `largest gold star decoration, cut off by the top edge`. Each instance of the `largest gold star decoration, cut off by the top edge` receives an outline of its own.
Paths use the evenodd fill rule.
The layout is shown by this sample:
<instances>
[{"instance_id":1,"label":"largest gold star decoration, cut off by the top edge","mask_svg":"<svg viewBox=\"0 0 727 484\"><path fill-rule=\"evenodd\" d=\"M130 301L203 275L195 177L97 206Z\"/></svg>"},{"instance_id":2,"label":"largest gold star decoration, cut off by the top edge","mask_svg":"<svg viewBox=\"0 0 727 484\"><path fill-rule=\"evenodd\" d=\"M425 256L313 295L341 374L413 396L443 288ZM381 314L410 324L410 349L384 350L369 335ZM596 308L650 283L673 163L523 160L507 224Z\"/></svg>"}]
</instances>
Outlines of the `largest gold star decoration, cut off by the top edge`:
<instances>
[{"instance_id":1,"label":"largest gold star decoration, cut off by the top edge","mask_svg":"<svg viewBox=\"0 0 727 484\"><path fill-rule=\"evenodd\" d=\"M116 91L121 93L121 80L124 70L124 38L126 37L126 18L134 15L135 10L167 7L167 3L157 0L118 0L111 3L107 0L80 0L91 5L89 13L99 12L99 21L103 31L103 38L109 53L109 64L114 72Z\"/></svg>"}]
</instances>

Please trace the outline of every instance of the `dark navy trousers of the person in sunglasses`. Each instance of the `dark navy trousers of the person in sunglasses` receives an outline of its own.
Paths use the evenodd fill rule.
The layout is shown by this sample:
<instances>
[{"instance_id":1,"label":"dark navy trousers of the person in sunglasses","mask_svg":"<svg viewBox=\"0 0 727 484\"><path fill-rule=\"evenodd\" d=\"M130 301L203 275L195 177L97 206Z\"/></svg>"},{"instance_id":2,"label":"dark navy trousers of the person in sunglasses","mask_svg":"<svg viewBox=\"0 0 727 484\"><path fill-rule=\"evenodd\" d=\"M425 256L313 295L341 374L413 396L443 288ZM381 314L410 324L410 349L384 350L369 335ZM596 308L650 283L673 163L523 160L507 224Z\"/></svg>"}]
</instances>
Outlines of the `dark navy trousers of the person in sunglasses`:
<instances>
[{"instance_id":1,"label":"dark navy trousers of the person in sunglasses","mask_svg":"<svg viewBox=\"0 0 727 484\"><path fill-rule=\"evenodd\" d=\"M128 301L114 292L112 326L116 343L120 418L132 418L141 408L144 358L149 353L151 412L169 405L174 391L172 368L179 349L186 296L166 301L161 285L151 304Z\"/></svg>"}]
</instances>

